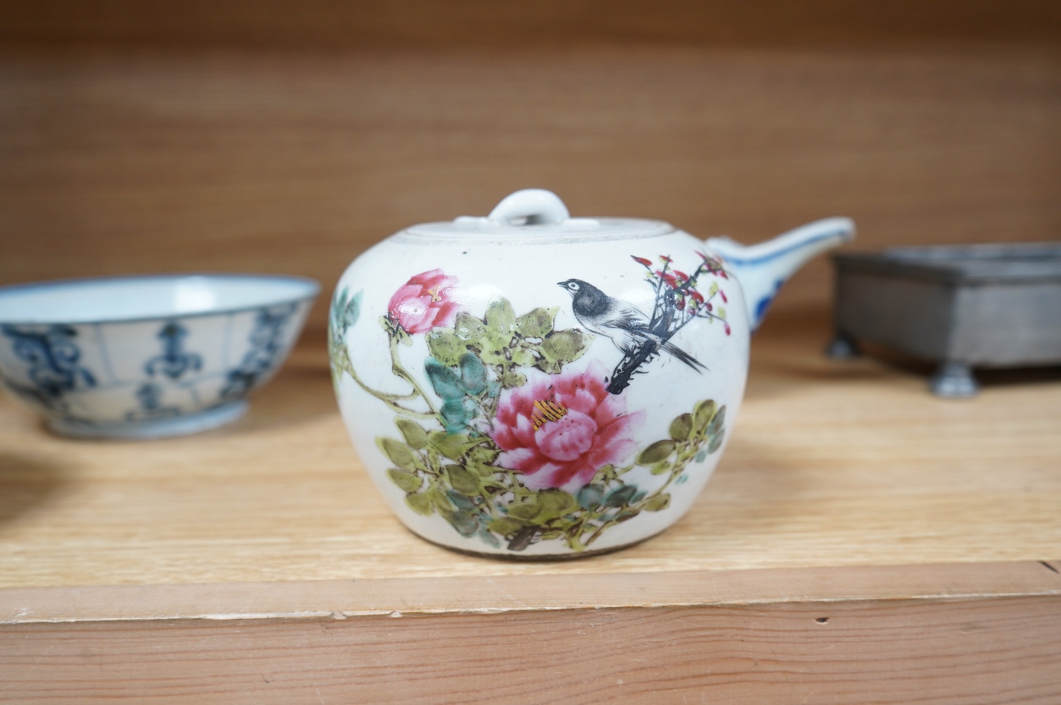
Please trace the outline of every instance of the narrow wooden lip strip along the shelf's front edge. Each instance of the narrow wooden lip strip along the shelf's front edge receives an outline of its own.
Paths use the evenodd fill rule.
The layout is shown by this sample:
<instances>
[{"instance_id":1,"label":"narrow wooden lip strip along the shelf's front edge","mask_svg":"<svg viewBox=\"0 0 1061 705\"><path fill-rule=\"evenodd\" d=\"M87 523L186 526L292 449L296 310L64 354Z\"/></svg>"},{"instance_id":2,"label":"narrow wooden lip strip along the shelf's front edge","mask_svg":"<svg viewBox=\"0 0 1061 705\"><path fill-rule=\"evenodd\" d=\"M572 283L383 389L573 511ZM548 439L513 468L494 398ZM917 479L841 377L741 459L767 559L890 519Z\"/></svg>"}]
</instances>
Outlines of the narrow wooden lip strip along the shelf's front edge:
<instances>
[{"instance_id":1,"label":"narrow wooden lip strip along the shelf's front edge","mask_svg":"<svg viewBox=\"0 0 1061 705\"><path fill-rule=\"evenodd\" d=\"M1061 561L0 589L0 629L563 610L1061 597Z\"/></svg>"}]
</instances>

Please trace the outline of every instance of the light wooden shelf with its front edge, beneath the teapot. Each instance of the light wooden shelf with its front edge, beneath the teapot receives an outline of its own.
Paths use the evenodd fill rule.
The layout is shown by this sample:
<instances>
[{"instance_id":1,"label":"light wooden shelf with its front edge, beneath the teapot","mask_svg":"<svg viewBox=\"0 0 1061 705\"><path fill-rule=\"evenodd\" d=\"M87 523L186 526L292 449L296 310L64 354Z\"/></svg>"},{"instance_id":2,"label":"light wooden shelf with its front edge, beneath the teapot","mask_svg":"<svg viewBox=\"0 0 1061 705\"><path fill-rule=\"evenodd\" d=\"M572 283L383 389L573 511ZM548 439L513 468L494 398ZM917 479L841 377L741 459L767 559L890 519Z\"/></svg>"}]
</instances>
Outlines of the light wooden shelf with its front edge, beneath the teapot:
<instances>
[{"instance_id":1,"label":"light wooden shelf with its front edge, beneath the teapot","mask_svg":"<svg viewBox=\"0 0 1061 705\"><path fill-rule=\"evenodd\" d=\"M0 689L1057 702L1061 376L997 374L940 400L906 367L824 359L825 318L788 313L754 341L732 442L689 515L570 562L405 531L312 339L246 419L201 436L69 441L4 404Z\"/></svg>"}]
</instances>

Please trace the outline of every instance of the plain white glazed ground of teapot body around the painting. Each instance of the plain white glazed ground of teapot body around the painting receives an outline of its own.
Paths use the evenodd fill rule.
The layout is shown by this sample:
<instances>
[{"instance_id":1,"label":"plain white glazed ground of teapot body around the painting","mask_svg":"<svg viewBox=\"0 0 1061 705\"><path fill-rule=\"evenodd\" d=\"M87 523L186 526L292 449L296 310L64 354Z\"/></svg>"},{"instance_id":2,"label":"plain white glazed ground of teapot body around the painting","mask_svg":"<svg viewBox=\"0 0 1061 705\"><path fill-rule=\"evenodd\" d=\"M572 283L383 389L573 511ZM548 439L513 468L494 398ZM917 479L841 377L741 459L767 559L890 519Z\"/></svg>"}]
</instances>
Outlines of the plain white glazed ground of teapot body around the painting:
<instances>
[{"instance_id":1,"label":"plain white glazed ground of teapot body around the painting","mask_svg":"<svg viewBox=\"0 0 1061 705\"><path fill-rule=\"evenodd\" d=\"M717 316L697 318L669 338L669 343L691 355L705 369L695 369L678 357L660 351L631 376L628 387L619 394L610 394L608 401L603 402L627 417L636 417L625 427L625 442L615 444L616 453L611 454L622 457L609 456L608 460L615 468L626 470L621 478L624 484L636 486L638 492L644 495L639 500L642 505L638 511L633 511L638 509L638 501L616 507L610 514L602 512L596 505L592 511L579 507L566 517L556 519L568 527L569 532L576 534L575 541L563 536L543 537L545 531L538 531L527 540L524 532L522 540L516 539L521 545L514 547L512 535L501 535L488 529L488 517L505 515L504 505L511 498L510 494L499 493L497 506L484 508L480 505L474 509L479 512L475 531L467 523L467 517L462 516L460 521L465 524L459 525L464 529L460 531L457 528L459 523L448 521L434 506L429 505L428 511L424 511L421 503L420 511L415 511L407 496L415 494L407 491L412 484L402 489L388 475L388 471L396 470L395 453L386 452L381 439L392 439L387 447L394 447L395 442L404 442L403 434L396 425L396 420L403 413L385 403L381 395L389 394L388 399L405 396L405 401L397 404L417 412L424 410L427 402L436 410L442 403L425 373L425 360L431 356L428 337L434 333L399 335L402 341L396 345L393 322L388 329L387 316L394 303L393 297L412 278L441 270L440 274L451 284L443 292L446 299L454 302L465 315L480 320L486 316L491 302L500 299L510 302L517 317L536 309L555 310L553 329L581 331L587 346L577 359L563 365L557 376L595 374L610 378L624 352L611 338L593 335L586 330L574 314L572 295L558 283L569 279L590 282L606 295L649 314L656 300L655 284L650 280L653 271L692 274L705 263L701 253L712 254L703 241L672 228L663 228L661 234L633 233L610 237L594 236L592 233L550 234L547 229L536 232L534 227L527 227L525 234L518 229L508 230L453 235L403 231L365 252L345 271L332 304L330 336L335 391L353 445L395 514L417 534L454 549L509 557L573 557L614 549L659 533L689 510L708 481L729 440L744 393L750 335L746 306L737 282L717 270L701 274L697 288L703 297L713 301L714 313L720 313L726 320ZM672 262L667 263L661 257L669 258ZM651 264L645 266L634 258L643 258ZM438 272L436 279L437 276ZM715 293L708 296L712 284L717 284L721 295ZM727 299L725 302L723 297ZM356 304L351 306L348 302L353 300ZM352 311L346 324L343 322L344 310ZM440 322L445 324L435 330L453 330L456 324L453 317L442 318L445 320ZM349 324L351 320L354 322ZM427 399L416 398L411 393L413 385L395 373L396 359ZM523 372L527 378L526 388L532 383L540 386L541 380L545 378L545 373L537 369L524 369ZM490 377L497 382L497 372L491 370ZM499 407L504 406L506 398L511 401L509 395L515 393L514 390L502 389ZM650 464L636 462L646 447L672 437L672 424L678 417L693 413L697 404L706 400L713 401L715 408L725 407L725 421L720 430L715 429L717 438L710 452L703 447L706 443L701 443L702 453L697 453L696 458L675 475L671 474L671 470L659 472L659 466L655 468L658 474L653 474ZM493 421L497 423L497 419ZM418 417L414 422L429 433L442 430L437 415L434 418ZM482 430L485 420L480 422ZM407 421L401 423L406 427L408 425ZM543 427L549 423L551 421L545 420ZM471 430L464 433L475 438ZM490 433L487 429L480 438ZM484 439L484 447L490 445L488 440ZM424 458L431 451L430 447L417 451L413 446L410 450L423 454ZM399 460L404 460L412 469L404 453L398 454ZM509 456L503 454L493 463L502 466L506 457ZM673 465L676 466L677 462ZM483 468L480 466L480 470ZM489 475L489 469L485 472ZM407 482L414 481L406 475L402 477ZM504 481L502 474L498 477ZM514 478L515 481L523 481L521 478L525 479L527 475L509 473L507 477L507 481ZM573 480L560 491L578 496L579 481ZM439 480L439 484L449 487L445 478ZM422 492L427 487L424 484L418 491ZM668 497L665 500L653 499L661 494ZM570 503L567 497L554 495L554 499L561 504ZM655 503L651 509L644 508L646 498ZM592 505L592 496L590 499ZM508 511L511 511L511 505ZM609 524L609 516L614 517L619 511L632 512L633 515ZM594 516L595 525L590 521ZM585 531L572 529L580 521L579 517L587 518ZM603 526L605 524L607 526ZM595 531L593 526L603 528ZM492 539L484 537L484 530L492 533ZM535 529L530 527L527 531L534 533ZM470 535L464 535L466 533Z\"/></svg>"}]
</instances>

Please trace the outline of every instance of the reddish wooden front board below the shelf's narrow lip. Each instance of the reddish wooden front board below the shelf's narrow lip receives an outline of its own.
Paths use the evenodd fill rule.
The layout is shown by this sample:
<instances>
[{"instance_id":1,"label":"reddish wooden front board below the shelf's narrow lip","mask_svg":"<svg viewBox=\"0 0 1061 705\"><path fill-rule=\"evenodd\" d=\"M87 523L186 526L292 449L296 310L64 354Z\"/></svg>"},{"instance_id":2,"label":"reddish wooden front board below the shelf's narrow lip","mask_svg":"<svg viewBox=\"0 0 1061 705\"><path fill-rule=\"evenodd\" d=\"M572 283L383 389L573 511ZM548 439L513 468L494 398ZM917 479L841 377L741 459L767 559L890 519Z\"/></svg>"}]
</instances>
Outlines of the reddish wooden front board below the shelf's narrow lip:
<instances>
[{"instance_id":1,"label":"reddish wooden front board below the shelf's narrow lip","mask_svg":"<svg viewBox=\"0 0 1061 705\"><path fill-rule=\"evenodd\" d=\"M10 703L1056 703L1061 599L0 630Z\"/></svg>"}]
</instances>

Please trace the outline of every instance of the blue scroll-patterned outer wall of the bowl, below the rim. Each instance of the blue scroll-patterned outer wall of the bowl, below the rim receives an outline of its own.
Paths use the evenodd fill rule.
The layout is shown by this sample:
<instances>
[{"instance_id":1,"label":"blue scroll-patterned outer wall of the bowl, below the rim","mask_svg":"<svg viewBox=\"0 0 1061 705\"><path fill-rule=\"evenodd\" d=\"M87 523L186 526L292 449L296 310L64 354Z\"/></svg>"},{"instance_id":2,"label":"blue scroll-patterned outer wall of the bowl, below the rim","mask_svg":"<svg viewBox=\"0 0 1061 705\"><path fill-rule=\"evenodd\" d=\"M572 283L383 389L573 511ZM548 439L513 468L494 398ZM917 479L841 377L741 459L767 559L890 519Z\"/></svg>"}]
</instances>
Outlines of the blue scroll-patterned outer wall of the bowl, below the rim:
<instances>
[{"instance_id":1,"label":"blue scroll-patterned outer wall of the bowl, below the rim","mask_svg":"<svg viewBox=\"0 0 1061 705\"><path fill-rule=\"evenodd\" d=\"M50 417L83 425L201 413L240 403L264 384L294 345L311 303L221 314L227 318L221 341L208 332L196 336L195 324L181 318L163 319L153 336L141 334L140 339L131 339L138 329L121 322L4 324L0 340L10 341L22 370L12 374L8 365L3 384ZM206 318L210 317L197 320ZM249 333L241 336L248 318L253 318ZM127 370L110 369L108 346L117 348L118 340L121 346L144 350L142 373L131 376ZM220 345L224 350L212 351L211 357L211 349ZM93 346L99 349L92 351L95 354L86 354ZM86 357L99 368L89 369ZM231 362L219 369L218 365L211 368L208 358ZM239 364L233 365L236 360Z\"/></svg>"}]
</instances>

